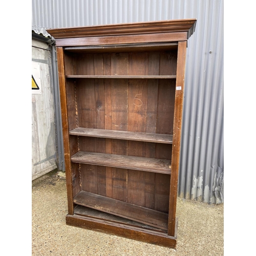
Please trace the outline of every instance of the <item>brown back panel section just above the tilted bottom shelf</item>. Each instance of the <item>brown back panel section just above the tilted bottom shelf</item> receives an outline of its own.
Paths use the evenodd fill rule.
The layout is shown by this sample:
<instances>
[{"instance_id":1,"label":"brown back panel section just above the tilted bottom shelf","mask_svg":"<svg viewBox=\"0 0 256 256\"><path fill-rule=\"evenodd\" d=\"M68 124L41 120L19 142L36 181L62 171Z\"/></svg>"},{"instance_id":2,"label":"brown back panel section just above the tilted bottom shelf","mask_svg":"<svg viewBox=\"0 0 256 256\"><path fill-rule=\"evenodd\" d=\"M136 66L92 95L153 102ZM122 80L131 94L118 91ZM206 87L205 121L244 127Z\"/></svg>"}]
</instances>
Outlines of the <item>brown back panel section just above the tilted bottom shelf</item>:
<instances>
[{"instance_id":1,"label":"brown back panel section just above the tilted bottom shelf","mask_svg":"<svg viewBox=\"0 0 256 256\"><path fill-rule=\"evenodd\" d=\"M81 164L81 190L168 212L170 178L166 174ZM111 177L108 176L111 173ZM107 192L108 190L108 192Z\"/></svg>"}]
</instances>

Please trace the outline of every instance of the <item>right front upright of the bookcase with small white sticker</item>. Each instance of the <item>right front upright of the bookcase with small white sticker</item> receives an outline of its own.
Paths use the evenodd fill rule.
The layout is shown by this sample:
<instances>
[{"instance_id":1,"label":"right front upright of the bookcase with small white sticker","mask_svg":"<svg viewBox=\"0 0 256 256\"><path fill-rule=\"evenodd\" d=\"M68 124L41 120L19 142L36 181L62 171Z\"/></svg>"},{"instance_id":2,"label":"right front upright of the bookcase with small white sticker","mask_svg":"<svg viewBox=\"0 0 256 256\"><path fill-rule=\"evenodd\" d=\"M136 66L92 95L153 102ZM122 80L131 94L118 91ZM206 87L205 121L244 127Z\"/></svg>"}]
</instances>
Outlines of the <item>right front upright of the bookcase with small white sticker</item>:
<instances>
[{"instance_id":1,"label":"right front upright of the bookcase with small white sticker","mask_svg":"<svg viewBox=\"0 0 256 256\"><path fill-rule=\"evenodd\" d=\"M177 187L179 176L180 161L180 137L181 137L181 121L183 107L183 90L185 79L185 63L186 63L186 41L178 43L177 58L177 79L175 93L175 109L174 109L174 132L173 132L173 151L172 151L172 171L170 176L170 199L169 199L169 218L168 218L168 235L175 235L175 219L176 219L176 203L177 203Z\"/></svg>"}]
</instances>

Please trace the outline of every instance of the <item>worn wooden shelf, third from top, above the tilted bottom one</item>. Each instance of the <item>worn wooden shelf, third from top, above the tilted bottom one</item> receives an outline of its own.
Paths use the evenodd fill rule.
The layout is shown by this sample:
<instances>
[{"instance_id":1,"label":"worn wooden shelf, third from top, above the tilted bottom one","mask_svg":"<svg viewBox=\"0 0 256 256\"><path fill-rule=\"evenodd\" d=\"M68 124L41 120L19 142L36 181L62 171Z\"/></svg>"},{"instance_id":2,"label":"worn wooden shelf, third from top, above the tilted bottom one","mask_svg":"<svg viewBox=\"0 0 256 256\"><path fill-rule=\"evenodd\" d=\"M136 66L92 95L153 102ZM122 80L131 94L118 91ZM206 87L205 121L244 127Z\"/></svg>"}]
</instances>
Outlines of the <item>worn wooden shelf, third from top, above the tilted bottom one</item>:
<instances>
[{"instance_id":1,"label":"worn wooden shelf, third from top, above the tilted bottom one","mask_svg":"<svg viewBox=\"0 0 256 256\"><path fill-rule=\"evenodd\" d=\"M108 167L143 170L145 172L170 174L170 160L133 157L104 153L79 151L71 157L75 163L85 163Z\"/></svg>"}]
</instances>

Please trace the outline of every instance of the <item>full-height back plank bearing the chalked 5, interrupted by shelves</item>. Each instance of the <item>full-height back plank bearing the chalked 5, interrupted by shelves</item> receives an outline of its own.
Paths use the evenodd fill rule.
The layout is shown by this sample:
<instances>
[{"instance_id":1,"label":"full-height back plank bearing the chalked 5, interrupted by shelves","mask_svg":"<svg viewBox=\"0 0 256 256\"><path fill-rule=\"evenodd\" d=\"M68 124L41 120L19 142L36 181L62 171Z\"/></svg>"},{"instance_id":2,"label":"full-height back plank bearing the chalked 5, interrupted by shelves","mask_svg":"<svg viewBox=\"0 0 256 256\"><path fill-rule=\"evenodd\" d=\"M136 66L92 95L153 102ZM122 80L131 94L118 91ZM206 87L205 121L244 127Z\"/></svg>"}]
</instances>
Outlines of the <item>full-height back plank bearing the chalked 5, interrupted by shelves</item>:
<instances>
[{"instance_id":1,"label":"full-height back plank bearing the chalked 5, interrupted by shelves","mask_svg":"<svg viewBox=\"0 0 256 256\"><path fill-rule=\"evenodd\" d=\"M148 74L148 52L129 53L129 74ZM128 131L146 132L147 79L128 84ZM145 157L145 142L128 141L127 154ZM128 170L128 202L145 206L145 172Z\"/></svg>"}]
</instances>

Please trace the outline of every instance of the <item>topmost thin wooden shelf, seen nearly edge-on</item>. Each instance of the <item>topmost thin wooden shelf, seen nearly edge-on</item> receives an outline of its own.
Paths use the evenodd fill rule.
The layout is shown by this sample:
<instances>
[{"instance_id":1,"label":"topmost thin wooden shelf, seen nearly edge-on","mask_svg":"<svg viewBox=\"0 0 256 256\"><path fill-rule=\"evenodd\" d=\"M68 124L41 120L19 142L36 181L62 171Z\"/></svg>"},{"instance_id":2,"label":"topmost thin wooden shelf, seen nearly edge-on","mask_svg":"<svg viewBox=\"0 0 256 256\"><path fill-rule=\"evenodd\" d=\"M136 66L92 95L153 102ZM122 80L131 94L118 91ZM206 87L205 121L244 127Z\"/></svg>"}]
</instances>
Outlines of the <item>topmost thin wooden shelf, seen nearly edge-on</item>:
<instances>
[{"instance_id":1,"label":"topmost thin wooden shelf, seen nearly edge-on","mask_svg":"<svg viewBox=\"0 0 256 256\"><path fill-rule=\"evenodd\" d=\"M66 78L173 79L176 75L66 75Z\"/></svg>"}]
</instances>

